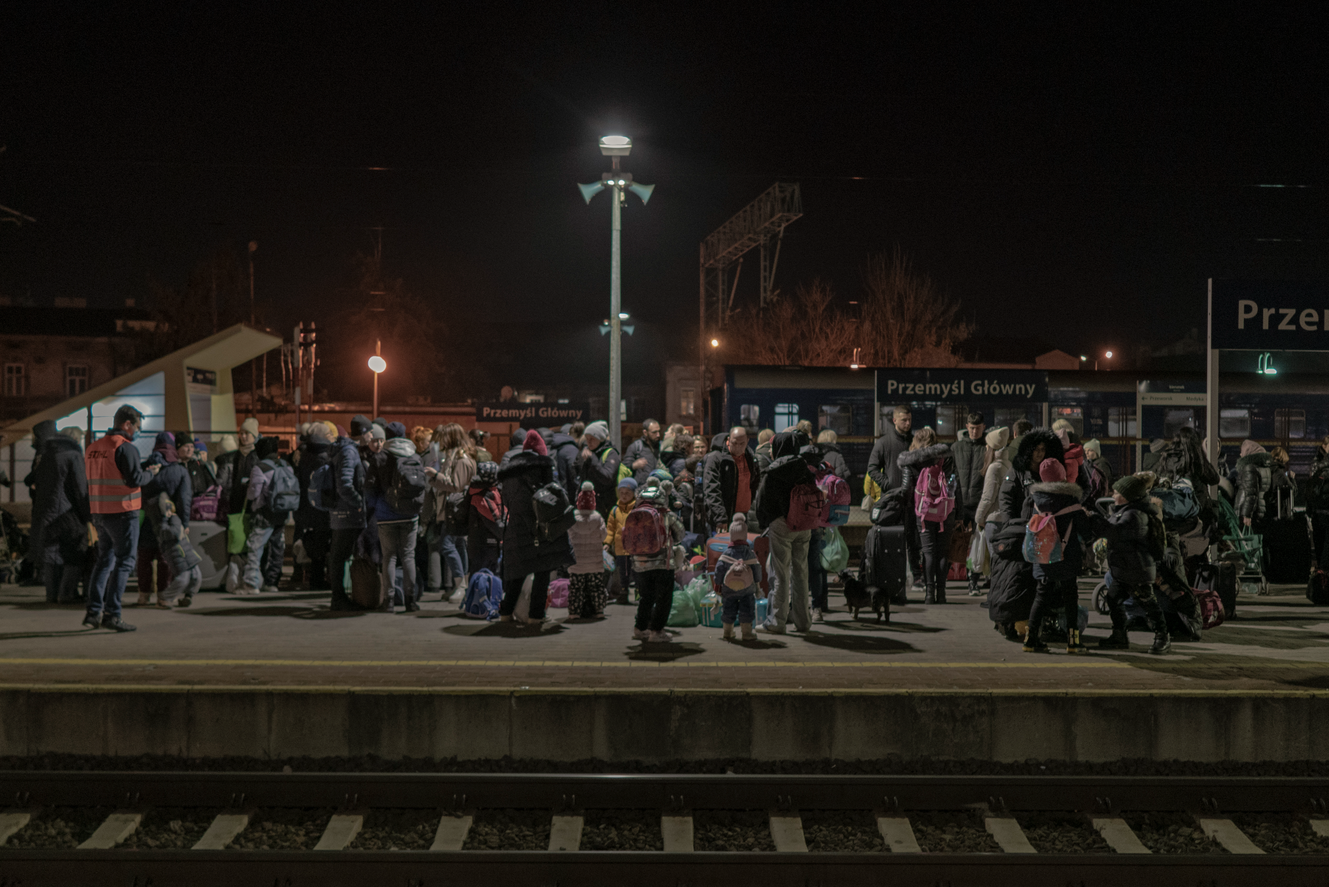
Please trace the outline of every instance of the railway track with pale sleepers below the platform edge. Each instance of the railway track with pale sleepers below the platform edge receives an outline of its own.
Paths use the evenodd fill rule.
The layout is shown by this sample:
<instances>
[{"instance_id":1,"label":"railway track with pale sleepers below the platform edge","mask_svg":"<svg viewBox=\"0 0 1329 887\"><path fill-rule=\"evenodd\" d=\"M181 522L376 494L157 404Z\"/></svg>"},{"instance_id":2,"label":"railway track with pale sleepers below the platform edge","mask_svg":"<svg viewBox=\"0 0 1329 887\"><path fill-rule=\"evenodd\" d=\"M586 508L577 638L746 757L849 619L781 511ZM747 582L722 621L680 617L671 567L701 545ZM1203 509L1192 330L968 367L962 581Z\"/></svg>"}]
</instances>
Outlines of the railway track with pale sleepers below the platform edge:
<instances>
[{"instance_id":1,"label":"railway track with pale sleepers below the platform edge","mask_svg":"<svg viewBox=\"0 0 1329 887\"><path fill-rule=\"evenodd\" d=\"M1317 778L11 771L0 798L0 887L1329 883Z\"/></svg>"}]
</instances>

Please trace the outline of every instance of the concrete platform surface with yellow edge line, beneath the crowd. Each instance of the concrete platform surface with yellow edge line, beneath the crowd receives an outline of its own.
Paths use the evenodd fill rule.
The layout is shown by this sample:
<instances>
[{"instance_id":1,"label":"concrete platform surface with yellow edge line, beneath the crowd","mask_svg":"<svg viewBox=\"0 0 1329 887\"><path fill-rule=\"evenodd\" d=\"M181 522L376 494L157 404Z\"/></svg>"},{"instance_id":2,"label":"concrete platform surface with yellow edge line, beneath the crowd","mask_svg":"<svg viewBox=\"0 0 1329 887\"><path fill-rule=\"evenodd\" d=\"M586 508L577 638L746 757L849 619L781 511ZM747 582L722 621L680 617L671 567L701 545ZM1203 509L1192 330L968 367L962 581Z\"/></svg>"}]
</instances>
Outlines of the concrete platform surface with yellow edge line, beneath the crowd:
<instances>
[{"instance_id":1,"label":"concrete platform surface with yellow edge line, beneath the crowd","mask_svg":"<svg viewBox=\"0 0 1329 887\"><path fill-rule=\"evenodd\" d=\"M1091 584L1082 586L1088 605ZM956 584L944 606L910 604L892 621L833 610L812 630L727 642L718 628L670 629L672 644L631 640L635 606L602 621L550 610L542 626L482 622L431 600L415 614L334 613L327 592L258 597L203 593L189 609L125 608L134 633L80 625L80 606L43 589L0 586L0 678L31 688L292 689L730 689L964 692L1329 690L1329 608L1301 589L1241 598L1236 620L1204 641L1146 653L1022 653L993 630L985 598ZM436 596L432 596L436 598ZM133 600L134 594L126 596ZM840 604L839 606L836 606ZM1087 642L1108 630L1090 616Z\"/></svg>"}]
</instances>

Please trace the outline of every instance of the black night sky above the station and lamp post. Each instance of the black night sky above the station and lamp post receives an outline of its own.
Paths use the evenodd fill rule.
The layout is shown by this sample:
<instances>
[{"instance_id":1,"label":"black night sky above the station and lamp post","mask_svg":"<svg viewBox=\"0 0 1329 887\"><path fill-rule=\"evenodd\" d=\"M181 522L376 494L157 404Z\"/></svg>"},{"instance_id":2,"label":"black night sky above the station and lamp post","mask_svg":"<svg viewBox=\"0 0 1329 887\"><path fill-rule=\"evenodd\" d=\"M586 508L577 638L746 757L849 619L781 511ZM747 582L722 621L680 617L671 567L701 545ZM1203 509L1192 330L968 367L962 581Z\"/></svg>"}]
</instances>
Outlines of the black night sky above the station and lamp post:
<instances>
[{"instance_id":1,"label":"black night sky above the station and lamp post","mask_svg":"<svg viewBox=\"0 0 1329 887\"><path fill-rule=\"evenodd\" d=\"M1211 275L1329 278L1314 4L882 8L16 4L0 203L37 223L0 226L0 293L142 305L256 239L284 327L383 226L453 323L593 324L609 203L575 182L606 133L658 185L625 213L625 306L680 347L698 242L776 180L805 210L783 289L856 298L900 245L981 334L1069 351L1180 338Z\"/></svg>"}]
</instances>

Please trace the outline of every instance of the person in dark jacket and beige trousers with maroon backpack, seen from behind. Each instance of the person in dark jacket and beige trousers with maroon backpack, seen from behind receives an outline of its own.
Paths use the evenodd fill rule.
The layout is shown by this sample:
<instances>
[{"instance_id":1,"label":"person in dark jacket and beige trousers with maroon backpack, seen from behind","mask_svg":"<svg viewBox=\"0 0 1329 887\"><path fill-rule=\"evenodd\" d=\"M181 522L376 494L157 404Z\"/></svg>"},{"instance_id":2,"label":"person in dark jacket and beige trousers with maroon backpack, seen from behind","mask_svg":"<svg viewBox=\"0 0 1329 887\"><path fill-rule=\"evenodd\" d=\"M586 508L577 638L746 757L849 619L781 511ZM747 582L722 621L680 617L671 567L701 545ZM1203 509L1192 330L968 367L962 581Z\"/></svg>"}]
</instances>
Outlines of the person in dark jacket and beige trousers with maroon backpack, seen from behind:
<instances>
[{"instance_id":1,"label":"person in dark jacket and beige trousers with maroon backpack, seen from behind","mask_svg":"<svg viewBox=\"0 0 1329 887\"><path fill-rule=\"evenodd\" d=\"M734 428L735 432L743 431ZM744 444L747 435L744 432ZM766 528L771 540L772 601L762 630L784 634L785 624L793 618L797 632L812 628L812 600L808 585L808 544L811 529L789 529L785 516L789 511L789 493L799 484L815 484L816 479L800 455L803 447L812 442L797 430L781 431L771 440L771 468L762 476L756 493L756 517ZM820 453L817 453L820 461ZM711 484L707 483L707 492Z\"/></svg>"}]
</instances>

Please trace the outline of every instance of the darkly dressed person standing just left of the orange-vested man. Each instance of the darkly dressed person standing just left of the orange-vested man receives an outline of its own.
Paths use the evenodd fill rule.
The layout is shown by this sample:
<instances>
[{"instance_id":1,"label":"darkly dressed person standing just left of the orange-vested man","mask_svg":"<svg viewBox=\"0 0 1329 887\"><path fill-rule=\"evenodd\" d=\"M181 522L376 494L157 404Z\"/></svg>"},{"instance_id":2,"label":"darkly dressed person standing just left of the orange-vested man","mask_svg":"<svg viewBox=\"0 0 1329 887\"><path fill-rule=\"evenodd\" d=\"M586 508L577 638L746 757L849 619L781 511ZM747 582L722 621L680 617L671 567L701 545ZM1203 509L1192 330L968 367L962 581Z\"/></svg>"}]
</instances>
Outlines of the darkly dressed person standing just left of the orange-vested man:
<instances>
[{"instance_id":1,"label":"darkly dressed person standing just left of the orange-vested man","mask_svg":"<svg viewBox=\"0 0 1329 887\"><path fill-rule=\"evenodd\" d=\"M88 524L92 523L82 447L65 435L47 438L32 473L37 495L32 500L28 544L43 570L47 602L77 604Z\"/></svg>"}]
</instances>

